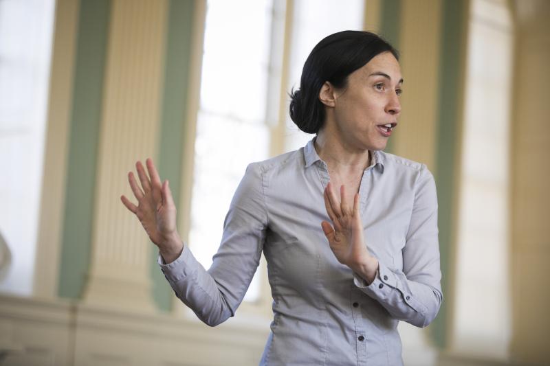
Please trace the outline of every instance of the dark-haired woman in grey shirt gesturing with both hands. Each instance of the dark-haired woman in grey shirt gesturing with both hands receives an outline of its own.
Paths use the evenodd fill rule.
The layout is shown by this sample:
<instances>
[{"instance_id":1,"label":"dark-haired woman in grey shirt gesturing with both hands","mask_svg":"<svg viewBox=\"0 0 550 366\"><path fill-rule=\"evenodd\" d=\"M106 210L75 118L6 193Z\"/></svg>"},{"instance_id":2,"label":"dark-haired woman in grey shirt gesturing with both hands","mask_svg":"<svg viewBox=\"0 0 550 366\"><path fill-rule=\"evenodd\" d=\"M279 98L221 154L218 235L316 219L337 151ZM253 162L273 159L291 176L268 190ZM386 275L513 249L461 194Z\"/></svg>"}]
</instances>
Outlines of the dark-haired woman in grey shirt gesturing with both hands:
<instances>
[{"instance_id":1,"label":"dark-haired woman in grey shirt gesturing with both hands","mask_svg":"<svg viewBox=\"0 0 550 366\"><path fill-rule=\"evenodd\" d=\"M401 365L399 320L441 305L437 197L426 165L386 154L401 112L397 52L369 32L332 34L307 58L290 115L316 137L252 163L206 271L181 242L151 159L138 205L170 286L208 325L232 317L265 254L274 320L261 365ZM328 214L328 216L327 216Z\"/></svg>"}]
</instances>

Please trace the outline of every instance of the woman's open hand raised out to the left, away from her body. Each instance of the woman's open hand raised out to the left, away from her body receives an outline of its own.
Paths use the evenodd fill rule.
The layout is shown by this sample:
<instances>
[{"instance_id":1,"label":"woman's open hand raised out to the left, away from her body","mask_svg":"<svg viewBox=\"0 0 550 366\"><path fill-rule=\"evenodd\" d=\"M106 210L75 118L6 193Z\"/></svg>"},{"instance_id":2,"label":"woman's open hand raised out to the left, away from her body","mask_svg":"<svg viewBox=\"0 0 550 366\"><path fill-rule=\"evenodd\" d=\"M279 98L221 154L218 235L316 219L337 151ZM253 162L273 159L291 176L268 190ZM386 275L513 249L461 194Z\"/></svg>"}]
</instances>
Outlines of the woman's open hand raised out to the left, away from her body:
<instances>
[{"instance_id":1,"label":"woman's open hand raised out to the left, away from her body","mask_svg":"<svg viewBox=\"0 0 550 366\"><path fill-rule=\"evenodd\" d=\"M128 181L137 199L137 206L124 195L120 196L120 200L140 220L151 241L159 247L164 261L170 263L177 259L184 249L177 233L176 207L168 181L161 183L153 160L147 159L145 163L148 175L140 161L135 163L141 187L133 172L128 173Z\"/></svg>"}]
</instances>

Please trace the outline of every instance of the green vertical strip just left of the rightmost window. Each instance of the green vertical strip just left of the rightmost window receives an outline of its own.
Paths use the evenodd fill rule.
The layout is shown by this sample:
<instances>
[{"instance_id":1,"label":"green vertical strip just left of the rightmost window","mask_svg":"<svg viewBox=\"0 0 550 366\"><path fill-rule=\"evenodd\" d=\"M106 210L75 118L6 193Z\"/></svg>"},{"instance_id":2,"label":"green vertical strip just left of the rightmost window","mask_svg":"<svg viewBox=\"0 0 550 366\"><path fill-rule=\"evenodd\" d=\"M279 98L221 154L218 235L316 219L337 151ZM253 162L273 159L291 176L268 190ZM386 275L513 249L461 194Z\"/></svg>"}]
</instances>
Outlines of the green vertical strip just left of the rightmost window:
<instances>
[{"instance_id":1,"label":"green vertical strip just left of the rightmost window","mask_svg":"<svg viewBox=\"0 0 550 366\"><path fill-rule=\"evenodd\" d=\"M463 108L463 65L465 65L465 36L467 35L467 1L443 0L443 24L441 25L441 56L439 69L439 115L438 131L436 135L436 172L437 198L439 203L439 249L441 251L441 286L443 288L443 305L437 319L430 325L434 343L444 348L448 339L446 337L447 325L450 323L448 309L452 304L450 293L451 275L450 269L453 258L452 246L454 245L453 233L456 222L452 222L452 207L454 194L457 191L458 181L454 176L459 153L459 126Z\"/></svg>"}]
</instances>

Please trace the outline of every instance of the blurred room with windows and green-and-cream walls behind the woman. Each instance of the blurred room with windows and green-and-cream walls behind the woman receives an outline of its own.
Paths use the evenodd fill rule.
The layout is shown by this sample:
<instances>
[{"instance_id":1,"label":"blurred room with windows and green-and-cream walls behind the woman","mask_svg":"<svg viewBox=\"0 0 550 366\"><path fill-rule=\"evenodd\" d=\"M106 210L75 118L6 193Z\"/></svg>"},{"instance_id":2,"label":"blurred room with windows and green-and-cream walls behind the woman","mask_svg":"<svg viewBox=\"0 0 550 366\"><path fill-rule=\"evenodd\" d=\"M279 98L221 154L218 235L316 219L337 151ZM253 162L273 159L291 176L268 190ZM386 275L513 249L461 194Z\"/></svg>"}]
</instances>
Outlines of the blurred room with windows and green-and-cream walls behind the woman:
<instances>
[{"instance_id":1,"label":"blurred room with windows and green-and-cream walls behind the woman","mask_svg":"<svg viewBox=\"0 0 550 366\"><path fill-rule=\"evenodd\" d=\"M0 365L257 365L262 262L211 329L120 203L152 157L208 268L245 167L312 135L288 117L311 49L401 53L388 152L437 181L444 301L406 365L550 365L550 1L0 0Z\"/></svg>"}]
</instances>

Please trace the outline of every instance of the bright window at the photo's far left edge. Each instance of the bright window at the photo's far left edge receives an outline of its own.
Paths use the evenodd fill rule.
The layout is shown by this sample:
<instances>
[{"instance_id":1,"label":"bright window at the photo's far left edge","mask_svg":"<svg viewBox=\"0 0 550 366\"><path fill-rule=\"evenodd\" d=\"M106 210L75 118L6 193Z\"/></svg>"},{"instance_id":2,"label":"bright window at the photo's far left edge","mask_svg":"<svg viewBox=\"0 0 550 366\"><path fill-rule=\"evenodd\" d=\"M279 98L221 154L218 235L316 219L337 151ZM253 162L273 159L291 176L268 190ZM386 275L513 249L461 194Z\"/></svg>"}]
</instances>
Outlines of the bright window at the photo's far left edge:
<instances>
[{"instance_id":1,"label":"bright window at the photo's far left edge","mask_svg":"<svg viewBox=\"0 0 550 366\"><path fill-rule=\"evenodd\" d=\"M0 290L32 293L54 0L0 1L0 233L12 251Z\"/></svg>"}]
</instances>

